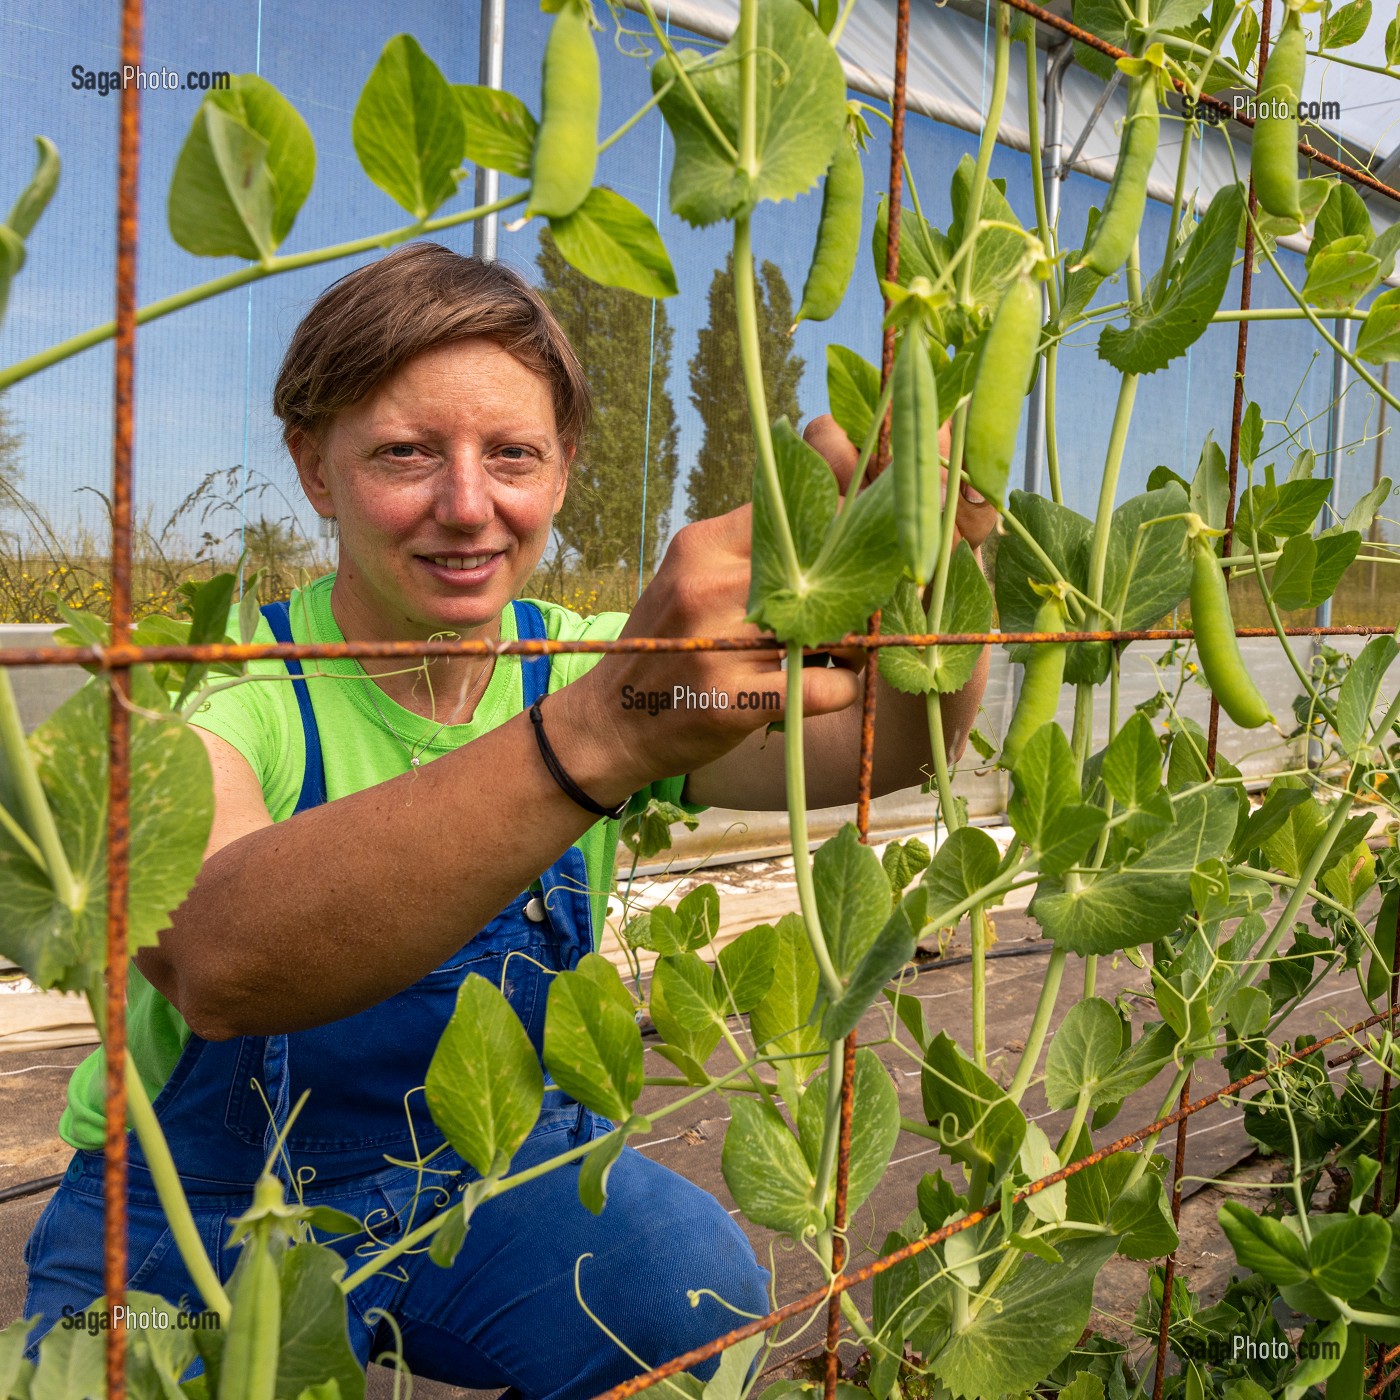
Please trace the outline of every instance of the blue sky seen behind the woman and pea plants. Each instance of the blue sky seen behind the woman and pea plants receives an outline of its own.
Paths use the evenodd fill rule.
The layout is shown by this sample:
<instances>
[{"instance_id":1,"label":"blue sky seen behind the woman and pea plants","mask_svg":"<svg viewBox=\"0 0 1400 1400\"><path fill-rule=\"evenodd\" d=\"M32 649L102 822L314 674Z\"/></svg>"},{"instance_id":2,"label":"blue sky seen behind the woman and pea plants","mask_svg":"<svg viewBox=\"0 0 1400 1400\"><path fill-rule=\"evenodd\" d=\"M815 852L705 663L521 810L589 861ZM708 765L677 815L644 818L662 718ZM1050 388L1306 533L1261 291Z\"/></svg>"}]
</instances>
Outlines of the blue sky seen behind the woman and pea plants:
<instances>
[{"instance_id":1,"label":"blue sky seen behind the woman and pea plants","mask_svg":"<svg viewBox=\"0 0 1400 1400\"><path fill-rule=\"evenodd\" d=\"M664 7L662 8L664 13ZM599 6L606 18L606 10ZM351 18L353 17L353 18ZM627 22L638 22L629 17ZM507 0L505 87L539 111L539 64L549 17L535 0ZM360 88L384 43L412 32L449 81L477 78L477 13L461 0L364 0L353 10L329 10L319 0L221 0L189 6L151 0L147 6L146 53L153 67L258 71L302 113L316 143L318 168L311 196L281 252L302 252L385 231L406 221L402 210L370 183L354 155L350 122ZM678 31L678 42L686 36ZM598 36L603 64L602 130L620 125L650 95L650 36L620 32L612 22ZM32 354L112 315L115 265L115 158L118 99L74 90L73 67L116 66L118 7L97 0L0 0L0 203L27 182L32 144L43 133L63 158L63 178L48 213L31 237L28 263L11 288L0 326L0 363ZM197 91L155 91L143 101L140 182L139 297L143 304L220 276L237 259L196 258L178 248L165 224L165 195L181 144L200 102ZM827 344L850 346L878 360L881 293L869 256L869 235L879 193L886 186L885 126L872 120L875 139L865 157L867 210L862 255L846 304L826 323L798 328L795 351L806 361L799 386L804 416L826 410ZM911 116L909 157L930 220L946 227L948 183L958 160L974 150L974 136ZM1028 158L998 147L993 175L1008 182L1008 197L1026 223L1033 218ZM668 301L675 329L671 393L680 427L679 472L672 528L685 519L685 479L700 447L701 423L689 402L687 361L707 319L706 295L713 272L729 244L728 225L694 230L671 216L671 143L658 113L650 113L599 162L599 182L612 185L652 217L676 267L680 294ZM518 188L503 176L503 190ZM1063 242L1074 246L1091 202L1105 186L1072 175L1063 199ZM470 181L456 202L463 207ZM795 202L763 206L755 217L755 249L784 272L794 300L801 295L811 259L820 192ZM470 252L470 225L438 235ZM500 255L538 280L533 266L536 224L501 230ZM1149 206L1142 232L1144 260L1155 266L1166 238L1166 210ZM1291 276L1301 259L1288 255ZM360 259L365 260L365 259ZM249 480L269 483L281 500L249 505L249 514L280 515L300 500L295 476L281 447L269 400L281 351L298 318L316 294L356 266L343 259L239 288L141 329L137 342L136 505L160 526L209 473L246 465ZM1282 305L1281 288L1266 274L1256 280L1256 302ZM1119 301L1123 288L1109 284L1100 301ZM1236 283L1225 304L1238 301ZM1061 354L1060 448L1065 501L1092 514L1099 494L1109 419L1117 375L1095 353L1096 332L1075 337ZM1315 337L1296 325L1257 332L1247 388L1266 417L1292 413L1299 424L1322 412L1330 398L1326 364L1315 363ZM1141 490L1148 473L1166 463L1186 475L1194 469L1208 430L1228 438L1235 328L1217 326L1166 371L1144 378L1128 442L1123 493ZM647 364L638 364L638 375ZM99 493L111 479L111 344L85 351L15 385L4 403L22 434L24 486L60 526L101 529ZM1301 388L1299 388L1301 386ZM738 389L736 389L738 392ZM1355 398L1355 396L1354 396ZM1375 447L1362 442L1362 427L1375 431L1373 399L1357 399L1348 437L1355 451L1341 463L1343 503L1368 489ZM1309 430L1322 447L1320 421ZM1267 444L1267 438L1266 438ZM1386 449L1392 475L1400 454ZM638 472L644 463L638 463ZM1019 472L1019 465L1014 469ZM301 505L302 518L312 521ZM185 517L197 533L193 517ZM225 515L220 533L235 524Z\"/></svg>"}]
</instances>

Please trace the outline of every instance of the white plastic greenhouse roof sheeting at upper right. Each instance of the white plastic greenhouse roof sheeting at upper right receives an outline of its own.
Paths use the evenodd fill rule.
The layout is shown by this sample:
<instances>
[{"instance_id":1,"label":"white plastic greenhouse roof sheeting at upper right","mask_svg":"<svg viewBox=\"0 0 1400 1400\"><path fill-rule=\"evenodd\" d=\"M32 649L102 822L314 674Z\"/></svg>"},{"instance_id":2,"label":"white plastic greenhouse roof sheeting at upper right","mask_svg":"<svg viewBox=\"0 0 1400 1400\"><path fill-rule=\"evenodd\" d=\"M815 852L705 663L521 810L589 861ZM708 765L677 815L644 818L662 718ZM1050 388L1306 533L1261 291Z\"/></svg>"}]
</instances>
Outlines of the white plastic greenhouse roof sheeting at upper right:
<instances>
[{"instance_id":1,"label":"white plastic greenhouse roof sheeting at upper right","mask_svg":"<svg viewBox=\"0 0 1400 1400\"><path fill-rule=\"evenodd\" d=\"M636 6L636 0L627 0ZM671 22L696 34L727 39L738 21L738 0L654 0L658 14L669 10ZM931 116L965 130L981 130L991 84L993 7L997 0L953 0L962 4L938 6L932 0L913 0L909 42L907 99L911 111ZM984 13L986 6L986 13ZM1057 13L1068 13L1064 0L1053 4ZM1274 6L1281 18L1282 6ZM1344 56L1359 63L1385 64L1383 7L1376 8L1368 34L1344 50ZM1277 20L1275 20L1277 24ZM1061 35L1039 27L1039 42L1058 43ZM895 0L861 0L846 32L841 35L840 55L851 87L872 97L889 98L893 74ZM1040 49L1042 91L1047 49ZM1089 123L1095 105L1103 95L1102 78L1070 63L1064 76L1064 154L1077 144L1079 133ZM1225 97L1226 94L1219 94ZM1123 85L1109 97L1103 115L1089 132L1082 150L1074 160L1074 169L1099 179L1109 179L1117 155L1114 127L1124 112ZM1348 164L1368 167L1386 183L1394 185L1400 176L1400 78L1359 71L1331 59L1309 59L1308 99L1336 101L1341 116L1327 123L1327 132L1305 127L1306 139L1322 151ZM1229 140L1240 167L1249 160L1249 129L1236 123ZM1170 202L1176 181L1182 125L1163 122L1162 139L1149 192L1154 199ZM1329 139L1331 137L1331 139ZM1018 150L1028 148L1026 137L1026 81L1021 62L1011 66L1007 87L1001 140ZM1198 161L1198 199L1205 203L1215 190L1233 179L1229 147L1218 130L1208 130ZM1379 153L1392 153L1380 160ZM1193 165L1197 161L1193 158ZM1326 174L1319 169L1319 174ZM1193 183L1196 172L1193 171ZM1372 221L1378 228L1400 218L1400 206L1383 195L1358 186L1366 200ZM1285 238L1285 244L1303 246L1305 238Z\"/></svg>"}]
</instances>

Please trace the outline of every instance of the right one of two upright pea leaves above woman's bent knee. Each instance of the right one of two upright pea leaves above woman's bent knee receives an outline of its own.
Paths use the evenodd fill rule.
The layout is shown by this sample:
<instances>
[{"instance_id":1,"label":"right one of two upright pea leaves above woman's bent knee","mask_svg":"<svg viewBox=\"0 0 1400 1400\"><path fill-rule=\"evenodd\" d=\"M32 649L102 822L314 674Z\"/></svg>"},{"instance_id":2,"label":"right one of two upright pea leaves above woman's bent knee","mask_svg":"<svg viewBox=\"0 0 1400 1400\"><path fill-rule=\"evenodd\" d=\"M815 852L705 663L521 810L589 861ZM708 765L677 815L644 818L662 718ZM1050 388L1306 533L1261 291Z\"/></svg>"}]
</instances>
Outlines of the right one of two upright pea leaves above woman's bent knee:
<instances>
[{"instance_id":1,"label":"right one of two upright pea leaves above woman's bent knee","mask_svg":"<svg viewBox=\"0 0 1400 1400\"><path fill-rule=\"evenodd\" d=\"M617 973L613 972L616 979ZM571 1098L622 1121L641 1093L641 1028L598 981L561 972L549 986L545 1067Z\"/></svg>"}]
</instances>

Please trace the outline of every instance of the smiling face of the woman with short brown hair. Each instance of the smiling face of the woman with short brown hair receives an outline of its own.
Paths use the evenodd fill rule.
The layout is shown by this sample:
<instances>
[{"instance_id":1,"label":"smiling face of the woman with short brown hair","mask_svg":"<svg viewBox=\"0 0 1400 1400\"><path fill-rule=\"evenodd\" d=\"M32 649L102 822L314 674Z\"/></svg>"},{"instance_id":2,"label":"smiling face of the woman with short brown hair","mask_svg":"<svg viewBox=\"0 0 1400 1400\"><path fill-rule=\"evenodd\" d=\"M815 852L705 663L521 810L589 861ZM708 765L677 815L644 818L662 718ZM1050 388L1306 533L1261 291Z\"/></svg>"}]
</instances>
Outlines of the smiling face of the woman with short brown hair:
<instances>
[{"instance_id":1,"label":"smiling face of the woman with short brown hair","mask_svg":"<svg viewBox=\"0 0 1400 1400\"><path fill-rule=\"evenodd\" d=\"M494 631L545 552L573 451L549 384L463 340L410 360L293 455L339 521L342 629L395 638Z\"/></svg>"}]
</instances>

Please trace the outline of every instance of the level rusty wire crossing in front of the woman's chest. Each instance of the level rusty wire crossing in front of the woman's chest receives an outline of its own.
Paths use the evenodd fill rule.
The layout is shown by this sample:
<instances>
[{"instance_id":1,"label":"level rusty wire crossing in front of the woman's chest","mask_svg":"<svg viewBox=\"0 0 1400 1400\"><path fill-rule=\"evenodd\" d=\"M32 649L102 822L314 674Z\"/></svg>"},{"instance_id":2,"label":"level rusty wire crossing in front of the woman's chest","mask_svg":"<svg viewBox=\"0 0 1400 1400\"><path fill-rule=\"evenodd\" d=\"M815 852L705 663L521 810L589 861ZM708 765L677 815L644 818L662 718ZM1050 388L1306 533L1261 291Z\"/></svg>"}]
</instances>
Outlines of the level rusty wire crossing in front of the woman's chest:
<instances>
[{"instance_id":1,"label":"level rusty wire crossing in front of the woman's chest","mask_svg":"<svg viewBox=\"0 0 1400 1400\"><path fill-rule=\"evenodd\" d=\"M1400 629L1383 623L1330 627L1284 627L1287 637L1380 637ZM930 631L850 633L820 647L804 647L818 655L839 648L874 651L878 647L995 647L1019 643L1071 641L1191 641L1189 627L1138 627L1119 631ZM1236 637L1274 637L1273 627L1236 627ZM692 652L783 651L774 637L616 637L591 641L316 641L316 643L206 643L185 647L0 647L0 666L136 666L151 662L220 661L344 661L382 657L539 657L556 652Z\"/></svg>"}]
</instances>

